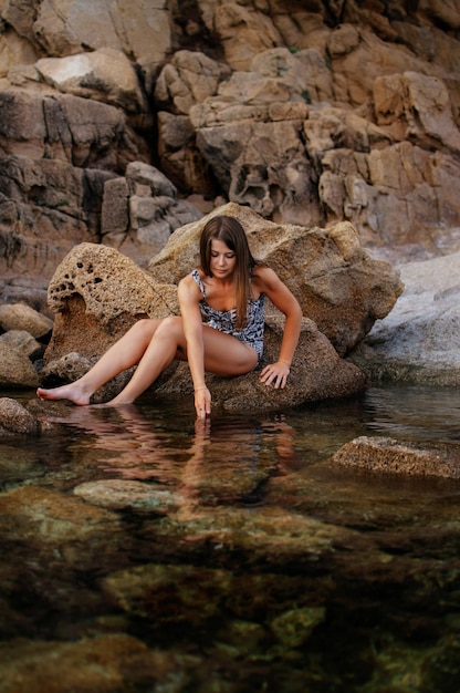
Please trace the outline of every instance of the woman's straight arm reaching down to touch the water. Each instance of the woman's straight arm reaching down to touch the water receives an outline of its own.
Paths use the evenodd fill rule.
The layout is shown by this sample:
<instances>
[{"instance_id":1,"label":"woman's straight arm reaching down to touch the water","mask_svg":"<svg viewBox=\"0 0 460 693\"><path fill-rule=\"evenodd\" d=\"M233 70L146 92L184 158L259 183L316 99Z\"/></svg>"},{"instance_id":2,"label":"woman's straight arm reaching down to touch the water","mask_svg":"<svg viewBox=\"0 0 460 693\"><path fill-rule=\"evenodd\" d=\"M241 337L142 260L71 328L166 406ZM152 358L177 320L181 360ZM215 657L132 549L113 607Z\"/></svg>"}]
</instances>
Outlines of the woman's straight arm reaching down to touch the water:
<instances>
[{"instance_id":1,"label":"woman's straight arm reaching down to touch the water","mask_svg":"<svg viewBox=\"0 0 460 693\"><path fill-rule=\"evenodd\" d=\"M205 345L199 307L200 291L190 275L179 282L178 299L187 342L187 360L194 381L195 408L200 418L211 413L211 394L205 383Z\"/></svg>"}]
</instances>

